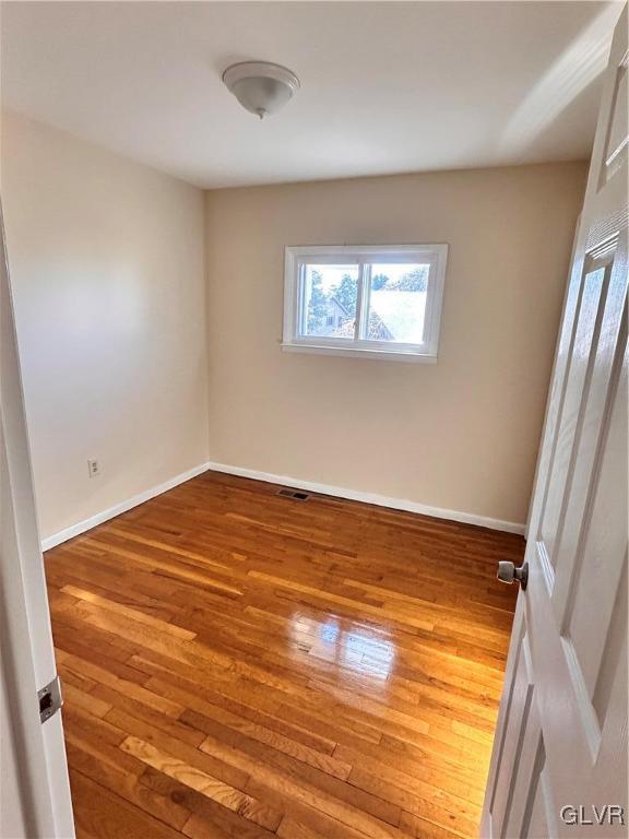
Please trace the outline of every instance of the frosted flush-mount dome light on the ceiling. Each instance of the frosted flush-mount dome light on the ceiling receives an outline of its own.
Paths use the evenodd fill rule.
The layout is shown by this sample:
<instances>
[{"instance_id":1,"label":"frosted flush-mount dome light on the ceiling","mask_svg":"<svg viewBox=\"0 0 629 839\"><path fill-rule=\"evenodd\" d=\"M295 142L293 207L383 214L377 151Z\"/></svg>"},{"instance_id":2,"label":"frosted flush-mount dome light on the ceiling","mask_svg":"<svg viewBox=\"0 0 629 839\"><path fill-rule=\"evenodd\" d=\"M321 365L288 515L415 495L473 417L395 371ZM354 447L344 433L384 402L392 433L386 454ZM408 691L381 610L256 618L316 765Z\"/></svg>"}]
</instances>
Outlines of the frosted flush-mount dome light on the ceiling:
<instances>
[{"instance_id":1,"label":"frosted flush-mount dome light on the ceiling","mask_svg":"<svg viewBox=\"0 0 629 839\"><path fill-rule=\"evenodd\" d=\"M223 73L223 81L244 108L263 119L293 98L299 79L281 64L241 61Z\"/></svg>"}]
</instances>

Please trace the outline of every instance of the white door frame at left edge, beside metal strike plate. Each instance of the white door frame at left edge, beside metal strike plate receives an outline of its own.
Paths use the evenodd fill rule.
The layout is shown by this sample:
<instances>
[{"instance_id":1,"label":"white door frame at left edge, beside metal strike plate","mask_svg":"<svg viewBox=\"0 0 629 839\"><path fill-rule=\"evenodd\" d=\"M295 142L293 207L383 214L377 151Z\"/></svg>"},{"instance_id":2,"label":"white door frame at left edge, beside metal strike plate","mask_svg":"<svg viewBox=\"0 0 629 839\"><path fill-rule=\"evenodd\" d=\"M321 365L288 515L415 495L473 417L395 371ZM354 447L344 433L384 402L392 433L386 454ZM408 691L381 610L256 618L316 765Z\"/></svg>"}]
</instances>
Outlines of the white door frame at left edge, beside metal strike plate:
<instances>
[{"instance_id":1,"label":"white door frame at left edge, beside metal strike plate","mask_svg":"<svg viewBox=\"0 0 629 839\"><path fill-rule=\"evenodd\" d=\"M0 836L72 839L61 713L40 721L57 669L39 547L0 208Z\"/></svg>"}]
</instances>

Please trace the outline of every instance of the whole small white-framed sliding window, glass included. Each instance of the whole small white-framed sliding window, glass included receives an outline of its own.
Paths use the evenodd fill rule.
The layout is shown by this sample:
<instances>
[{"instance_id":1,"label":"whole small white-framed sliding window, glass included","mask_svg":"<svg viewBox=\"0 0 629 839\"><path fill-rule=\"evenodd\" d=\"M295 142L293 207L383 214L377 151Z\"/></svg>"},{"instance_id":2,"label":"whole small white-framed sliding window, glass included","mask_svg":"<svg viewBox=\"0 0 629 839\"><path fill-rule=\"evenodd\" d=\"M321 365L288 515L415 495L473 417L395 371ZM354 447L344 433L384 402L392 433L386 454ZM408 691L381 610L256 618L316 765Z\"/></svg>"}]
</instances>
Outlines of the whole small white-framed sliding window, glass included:
<instances>
[{"instance_id":1,"label":"whole small white-framed sliding window, glass included","mask_svg":"<svg viewBox=\"0 0 629 839\"><path fill-rule=\"evenodd\" d=\"M447 245L286 248L283 348L435 362Z\"/></svg>"}]
</instances>

